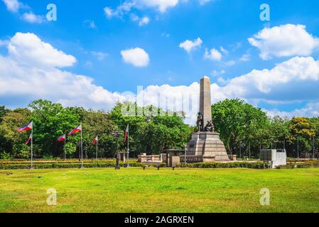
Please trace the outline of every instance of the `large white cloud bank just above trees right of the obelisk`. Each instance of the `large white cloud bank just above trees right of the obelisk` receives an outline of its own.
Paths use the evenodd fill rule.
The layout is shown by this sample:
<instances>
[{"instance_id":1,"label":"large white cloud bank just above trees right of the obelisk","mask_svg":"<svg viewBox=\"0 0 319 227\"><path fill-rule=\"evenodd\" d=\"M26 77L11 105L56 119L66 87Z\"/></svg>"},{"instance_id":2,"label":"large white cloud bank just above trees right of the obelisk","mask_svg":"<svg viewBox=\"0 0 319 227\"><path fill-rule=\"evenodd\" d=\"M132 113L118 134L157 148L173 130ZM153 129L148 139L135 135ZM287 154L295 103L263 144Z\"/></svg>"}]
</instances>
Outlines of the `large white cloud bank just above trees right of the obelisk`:
<instances>
[{"instance_id":1,"label":"large white cloud bank just above trees right of the obelisk","mask_svg":"<svg viewBox=\"0 0 319 227\"><path fill-rule=\"evenodd\" d=\"M271 70L252 70L234 77L225 87L216 87L222 97L254 101L319 101L319 61L293 57Z\"/></svg>"}]
</instances>

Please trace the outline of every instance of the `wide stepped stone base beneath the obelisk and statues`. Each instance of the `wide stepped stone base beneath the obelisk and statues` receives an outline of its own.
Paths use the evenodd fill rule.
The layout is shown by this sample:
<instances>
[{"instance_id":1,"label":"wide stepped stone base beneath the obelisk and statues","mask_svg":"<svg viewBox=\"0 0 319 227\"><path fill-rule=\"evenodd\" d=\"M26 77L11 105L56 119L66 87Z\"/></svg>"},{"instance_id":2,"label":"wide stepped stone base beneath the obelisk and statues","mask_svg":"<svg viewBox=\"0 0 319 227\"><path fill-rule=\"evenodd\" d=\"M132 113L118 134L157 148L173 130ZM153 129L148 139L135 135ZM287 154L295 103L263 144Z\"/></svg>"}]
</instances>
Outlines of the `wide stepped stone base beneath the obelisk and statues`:
<instances>
[{"instance_id":1,"label":"wide stepped stone base beneath the obelisk and statues","mask_svg":"<svg viewBox=\"0 0 319 227\"><path fill-rule=\"evenodd\" d=\"M225 145L220 140L219 133L193 133L192 139L188 143L187 155L190 159L192 156L201 156L202 162L229 161Z\"/></svg>"}]
</instances>

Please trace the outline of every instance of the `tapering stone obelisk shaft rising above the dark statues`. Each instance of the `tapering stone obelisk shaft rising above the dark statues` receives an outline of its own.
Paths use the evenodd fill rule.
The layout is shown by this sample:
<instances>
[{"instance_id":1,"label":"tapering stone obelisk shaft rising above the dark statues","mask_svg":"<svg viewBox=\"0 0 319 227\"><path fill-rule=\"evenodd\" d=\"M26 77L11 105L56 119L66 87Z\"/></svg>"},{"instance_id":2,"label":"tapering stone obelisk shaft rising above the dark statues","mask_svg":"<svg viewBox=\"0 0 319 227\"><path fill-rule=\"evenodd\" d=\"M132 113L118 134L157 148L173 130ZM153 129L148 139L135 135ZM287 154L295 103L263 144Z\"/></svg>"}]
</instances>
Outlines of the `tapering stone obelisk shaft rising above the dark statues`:
<instances>
[{"instance_id":1,"label":"tapering stone obelisk shaft rising above the dark statues","mask_svg":"<svg viewBox=\"0 0 319 227\"><path fill-rule=\"evenodd\" d=\"M212 97L210 96L210 78L203 77L200 80L200 114L202 114L203 126L212 121Z\"/></svg>"}]
</instances>

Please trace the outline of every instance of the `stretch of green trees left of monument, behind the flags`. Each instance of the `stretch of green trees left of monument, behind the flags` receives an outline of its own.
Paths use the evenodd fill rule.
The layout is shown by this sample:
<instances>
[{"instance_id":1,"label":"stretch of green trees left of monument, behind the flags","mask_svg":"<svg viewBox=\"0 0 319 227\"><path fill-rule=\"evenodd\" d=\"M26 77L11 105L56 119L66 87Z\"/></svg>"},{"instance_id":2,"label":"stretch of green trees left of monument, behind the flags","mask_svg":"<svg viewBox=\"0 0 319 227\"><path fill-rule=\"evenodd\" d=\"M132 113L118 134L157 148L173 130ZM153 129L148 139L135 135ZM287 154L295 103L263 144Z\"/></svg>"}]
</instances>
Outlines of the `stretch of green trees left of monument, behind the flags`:
<instances>
[{"instance_id":1,"label":"stretch of green trees left of monument, behind the flags","mask_svg":"<svg viewBox=\"0 0 319 227\"><path fill-rule=\"evenodd\" d=\"M6 109L0 106L0 158L25 159L30 157L30 147L25 145L30 132L18 133L17 128L33 121L33 151L36 158L63 157L64 143L58 138L69 133L82 122L83 154L86 158L96 157L92 145L99 136L98 156L114 157L117 139L112 132L124 131L129 124L129 143L132 153L161 153L166 148L183 148L192 133L183 123L183 117L155 116L148 121L146 116L123 116L117 104L111 111L85 110L82 107L63 107L48 100L36 100L25 109ZM140 108L137 107L136 108ZM144 109L154 109L147 106ZM158 109L158 111L160 111ZM119 150L125 150L124 138L119 138ZM67 136L66 156L80 155L80 133Z\"/></svg>"}]
</instances>

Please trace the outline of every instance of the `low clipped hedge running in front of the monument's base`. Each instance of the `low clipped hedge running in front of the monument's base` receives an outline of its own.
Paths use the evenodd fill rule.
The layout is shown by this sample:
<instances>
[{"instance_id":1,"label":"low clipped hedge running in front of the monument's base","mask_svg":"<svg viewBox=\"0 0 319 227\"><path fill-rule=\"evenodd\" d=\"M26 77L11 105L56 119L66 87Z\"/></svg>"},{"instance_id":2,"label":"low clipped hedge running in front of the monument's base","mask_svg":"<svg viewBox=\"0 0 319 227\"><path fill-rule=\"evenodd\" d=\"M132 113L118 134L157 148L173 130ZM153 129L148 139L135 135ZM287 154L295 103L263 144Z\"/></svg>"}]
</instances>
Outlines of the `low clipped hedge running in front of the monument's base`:
<instances>
[{"instance_id":1,"label":"low clipped hedge running in front of the monument's base","mask_svg":"<svg viewBox=\"0 0 319 227\"><path fill-rule=\"evenodd\" d=\"M182 168L249 168L249 169L264 169L268 165L264 162L199 162L199 163L180 163L178 167Z\"/></svg>"}]
</instances>

